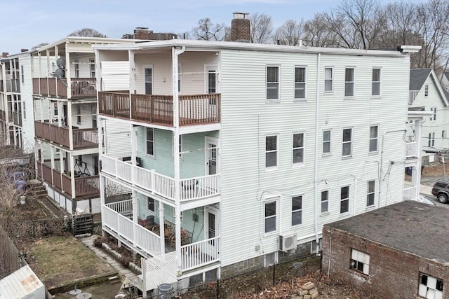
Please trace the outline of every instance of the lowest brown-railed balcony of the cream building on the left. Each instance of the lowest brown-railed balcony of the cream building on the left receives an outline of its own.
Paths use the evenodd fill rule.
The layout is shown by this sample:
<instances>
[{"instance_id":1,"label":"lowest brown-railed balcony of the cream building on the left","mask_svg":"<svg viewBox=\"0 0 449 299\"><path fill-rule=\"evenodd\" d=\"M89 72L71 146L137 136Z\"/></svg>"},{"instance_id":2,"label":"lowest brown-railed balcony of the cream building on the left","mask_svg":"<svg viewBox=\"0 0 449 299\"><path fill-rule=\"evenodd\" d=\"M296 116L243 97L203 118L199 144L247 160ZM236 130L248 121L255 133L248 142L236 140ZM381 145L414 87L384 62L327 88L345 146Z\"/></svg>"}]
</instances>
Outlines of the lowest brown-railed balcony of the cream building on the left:
<instances>
[{"instance_id":1,"label":"lowest brown-railed balcony of the cream building on the left","mask_svg":"<svg viewBox=\"0 0 449 299\"><path fill-rule=\"evenodd\" d=\"M52 169L46 163L37 162L37 176L71 198L100 196L100 176L76 177L74 190L70 176L60 172L60 169Z\"/></svg>"}]
</instances>

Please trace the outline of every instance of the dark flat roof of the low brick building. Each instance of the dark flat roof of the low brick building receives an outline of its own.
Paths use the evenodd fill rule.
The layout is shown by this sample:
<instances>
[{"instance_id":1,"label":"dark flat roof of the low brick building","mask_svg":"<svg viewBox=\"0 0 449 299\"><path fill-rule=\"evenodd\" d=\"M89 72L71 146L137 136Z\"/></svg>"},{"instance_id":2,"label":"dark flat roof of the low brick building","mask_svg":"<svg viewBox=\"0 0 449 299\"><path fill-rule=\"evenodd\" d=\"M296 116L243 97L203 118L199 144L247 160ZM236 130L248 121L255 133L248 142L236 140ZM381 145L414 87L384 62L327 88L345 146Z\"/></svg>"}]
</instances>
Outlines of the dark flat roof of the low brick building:
<instances>
[{"instance_id":1,"label":"dark flat roof of the low brick building","mask_svg":"<svg viewBox=\"0 0 449 299\"><path fill-rule=\"evenodd\" d=\"M328 226L422 258L449 263L449 209L404 201Z\"/></svg>"}]
</instances>

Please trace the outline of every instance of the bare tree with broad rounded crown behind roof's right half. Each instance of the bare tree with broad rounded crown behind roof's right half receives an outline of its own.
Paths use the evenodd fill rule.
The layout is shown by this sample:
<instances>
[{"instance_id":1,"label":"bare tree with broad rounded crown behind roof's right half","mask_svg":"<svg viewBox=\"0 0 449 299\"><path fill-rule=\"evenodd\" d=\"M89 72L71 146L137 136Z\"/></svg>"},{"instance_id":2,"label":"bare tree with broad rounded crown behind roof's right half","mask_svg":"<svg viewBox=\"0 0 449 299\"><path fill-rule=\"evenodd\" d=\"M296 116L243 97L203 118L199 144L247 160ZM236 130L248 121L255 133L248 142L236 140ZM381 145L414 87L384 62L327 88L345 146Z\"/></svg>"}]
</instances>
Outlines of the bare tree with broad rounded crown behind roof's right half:
<instances>
[{"instance_id":1,"label":"bare tree with broad rounded crown behind roof's right half","mask_svg":"<svg viewBox=\"0 0 449 299\"><path fill-rule=\"evenodd\" d=\"M385 27L377 0L343 0L335 11L325 13L329 29L337 34L343 48L373 48Z\"/></svg>"}]
</instances>

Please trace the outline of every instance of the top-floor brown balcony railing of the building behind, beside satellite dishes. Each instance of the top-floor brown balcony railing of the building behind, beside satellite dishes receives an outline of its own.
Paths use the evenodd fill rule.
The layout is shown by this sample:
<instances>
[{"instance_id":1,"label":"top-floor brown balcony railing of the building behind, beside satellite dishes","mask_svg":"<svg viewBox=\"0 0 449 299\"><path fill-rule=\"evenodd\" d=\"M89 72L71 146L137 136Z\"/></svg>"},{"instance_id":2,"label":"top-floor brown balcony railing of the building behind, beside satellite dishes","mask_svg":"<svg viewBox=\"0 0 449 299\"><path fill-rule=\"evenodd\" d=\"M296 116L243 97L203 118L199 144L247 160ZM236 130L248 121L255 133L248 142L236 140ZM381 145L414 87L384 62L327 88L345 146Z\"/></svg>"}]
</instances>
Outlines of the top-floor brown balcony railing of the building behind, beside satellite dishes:
<instances>
[{"instance_id":1,"label":"top-floor brown balcony railing of the building behind, beside satellite dishes","mask_svg":"<svg viewBox=\"0 0 449 299\"><path fill-rule=\"evenodd\" d=\"M95 78L71 78L72 98L96 97L97 81ZM67 79L33 78L34 95L67 98Z\"/></svg>"}]
</instances>

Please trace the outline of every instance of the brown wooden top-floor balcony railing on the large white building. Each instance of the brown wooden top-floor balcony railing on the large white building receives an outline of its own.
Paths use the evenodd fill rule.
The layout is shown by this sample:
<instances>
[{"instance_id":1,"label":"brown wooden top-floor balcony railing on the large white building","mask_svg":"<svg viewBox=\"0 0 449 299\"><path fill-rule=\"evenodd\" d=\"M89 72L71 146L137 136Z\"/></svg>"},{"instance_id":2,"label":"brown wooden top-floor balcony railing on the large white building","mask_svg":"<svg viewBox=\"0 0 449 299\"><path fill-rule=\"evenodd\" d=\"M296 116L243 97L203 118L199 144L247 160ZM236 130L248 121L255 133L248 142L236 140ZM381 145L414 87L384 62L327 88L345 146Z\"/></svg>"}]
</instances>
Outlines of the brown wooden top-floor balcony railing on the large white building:
<instances>
[{"instance_id":1,"label":"brown wooden top-floor balcony railing on the large white building","mask_svg":"<svg viewBox=\"0 0 449 299\"><path fill-rule=\"evenodd\" d=\"M180 125L220 122L220 94L180 95ZM173 126L173 96L98 92L99 113L142 123Z\"/></svg>"}]
</instances>

